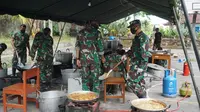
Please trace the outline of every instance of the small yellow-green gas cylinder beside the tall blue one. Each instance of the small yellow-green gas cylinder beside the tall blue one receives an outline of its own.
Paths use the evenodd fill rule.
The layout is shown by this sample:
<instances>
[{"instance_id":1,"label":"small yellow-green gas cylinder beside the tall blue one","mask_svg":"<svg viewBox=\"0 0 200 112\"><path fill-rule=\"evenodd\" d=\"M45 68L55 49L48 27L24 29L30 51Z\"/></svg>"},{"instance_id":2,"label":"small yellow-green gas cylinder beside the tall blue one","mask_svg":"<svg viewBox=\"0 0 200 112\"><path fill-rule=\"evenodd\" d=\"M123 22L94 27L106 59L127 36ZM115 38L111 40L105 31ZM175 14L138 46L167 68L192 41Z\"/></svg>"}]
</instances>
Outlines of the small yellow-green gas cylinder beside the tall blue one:
<instances>
[{"instance_id":1,"label":"small yellow-green gas cylinder beside the tall blue one","mask_svg":"<svg viewBox=\"0 0 200 112\"><path fill-rule=\"evenodd\" d=\"M192 95L191 83L185 82L182 84L182 87L179 89L180 96L185 96L187 94L188 97Z\"/></svg>"}]
</instances>

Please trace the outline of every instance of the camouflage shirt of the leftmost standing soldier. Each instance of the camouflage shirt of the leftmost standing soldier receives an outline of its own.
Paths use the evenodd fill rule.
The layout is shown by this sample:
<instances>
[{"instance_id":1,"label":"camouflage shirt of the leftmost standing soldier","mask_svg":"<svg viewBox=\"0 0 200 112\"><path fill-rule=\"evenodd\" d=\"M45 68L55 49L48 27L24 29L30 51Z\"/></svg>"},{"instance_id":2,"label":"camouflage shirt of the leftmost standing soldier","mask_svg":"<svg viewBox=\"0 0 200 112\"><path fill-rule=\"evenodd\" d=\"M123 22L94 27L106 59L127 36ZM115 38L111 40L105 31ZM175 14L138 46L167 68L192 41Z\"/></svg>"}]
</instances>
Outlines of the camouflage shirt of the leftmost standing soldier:
<instances>
[{"instance_id":1,"label":"camouflage shirt of the leftmost standing soldier","mask_svg":"<svg viewBox=\"0 0 200 112\"><path fill-rule=\"evenodd\" d=\"M27 33L22 33L21 31L14 34L12 37L14 40L14 47L18 53L26 52L26 46L29 42L29 35Z\"/></svg>"}]
</instances>

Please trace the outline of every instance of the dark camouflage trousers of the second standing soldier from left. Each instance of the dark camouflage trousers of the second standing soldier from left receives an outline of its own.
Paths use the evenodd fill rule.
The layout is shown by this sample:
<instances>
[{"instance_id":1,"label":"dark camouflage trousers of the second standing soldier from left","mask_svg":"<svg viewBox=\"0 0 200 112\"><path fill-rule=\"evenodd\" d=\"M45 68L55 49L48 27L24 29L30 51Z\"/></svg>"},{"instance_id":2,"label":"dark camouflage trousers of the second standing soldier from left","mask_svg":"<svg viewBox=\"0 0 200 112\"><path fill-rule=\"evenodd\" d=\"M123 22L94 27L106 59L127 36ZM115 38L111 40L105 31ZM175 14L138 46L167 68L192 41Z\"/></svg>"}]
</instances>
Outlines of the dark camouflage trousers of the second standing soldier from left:
<instances>
[{"instance_id":1,"label":"dark camouflage trousers of the second standing soldier from left","mask_svg":"<svg viewBox=\"0 0 200 112\"><path fill-rule=\"evenodd\" d=\"M53 64L45 61L38 61L37 64L40 68L40 82L51 82Z\"/></svg>"}]
</instances>

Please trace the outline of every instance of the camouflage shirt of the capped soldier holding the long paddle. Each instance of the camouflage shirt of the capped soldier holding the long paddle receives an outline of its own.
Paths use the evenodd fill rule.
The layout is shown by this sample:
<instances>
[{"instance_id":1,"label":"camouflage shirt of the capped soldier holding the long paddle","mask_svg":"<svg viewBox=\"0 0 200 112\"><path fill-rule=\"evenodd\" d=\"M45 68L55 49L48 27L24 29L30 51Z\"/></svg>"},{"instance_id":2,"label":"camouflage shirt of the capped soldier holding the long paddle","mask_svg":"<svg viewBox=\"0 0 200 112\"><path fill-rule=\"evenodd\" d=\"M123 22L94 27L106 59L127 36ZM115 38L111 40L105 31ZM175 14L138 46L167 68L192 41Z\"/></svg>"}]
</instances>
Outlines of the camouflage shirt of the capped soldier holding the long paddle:
<instances>
[{"instance_id":1,"label":"camouflage shirt of the capped soldier holding the long paddle","mask_svg":"<svg viewBox=\"0 0 200 112\"><path fill-rule=\"evenodd\" d=\"M140 32L132 40L131 54L129 54L131 59L148 61L151 56L149 52L149 38L143 32Z\"/></svg>"}]
</instances>

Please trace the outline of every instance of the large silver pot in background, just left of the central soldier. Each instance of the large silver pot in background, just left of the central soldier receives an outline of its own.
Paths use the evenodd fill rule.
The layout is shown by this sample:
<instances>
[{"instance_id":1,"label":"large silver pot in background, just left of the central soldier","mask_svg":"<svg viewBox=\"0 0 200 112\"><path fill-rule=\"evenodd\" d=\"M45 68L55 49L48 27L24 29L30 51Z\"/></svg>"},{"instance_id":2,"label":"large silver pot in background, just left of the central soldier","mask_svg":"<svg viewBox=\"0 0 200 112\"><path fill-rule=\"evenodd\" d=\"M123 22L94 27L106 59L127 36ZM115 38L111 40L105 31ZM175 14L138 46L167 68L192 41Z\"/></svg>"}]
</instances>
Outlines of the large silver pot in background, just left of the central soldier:
<instances>
[{"instance_id":1,"label":"large silver pot in background, just left of the central soldier","mask_svg":"<svg viewBox=\"0 0 200 112\"><path fill-rule=\"evenodd\" d=\"M61 52L60 50L57 51L55 59L62 64L72 64L72 53L69 49L66 49L67 52Z\"/></svg>"}]
</instances>

